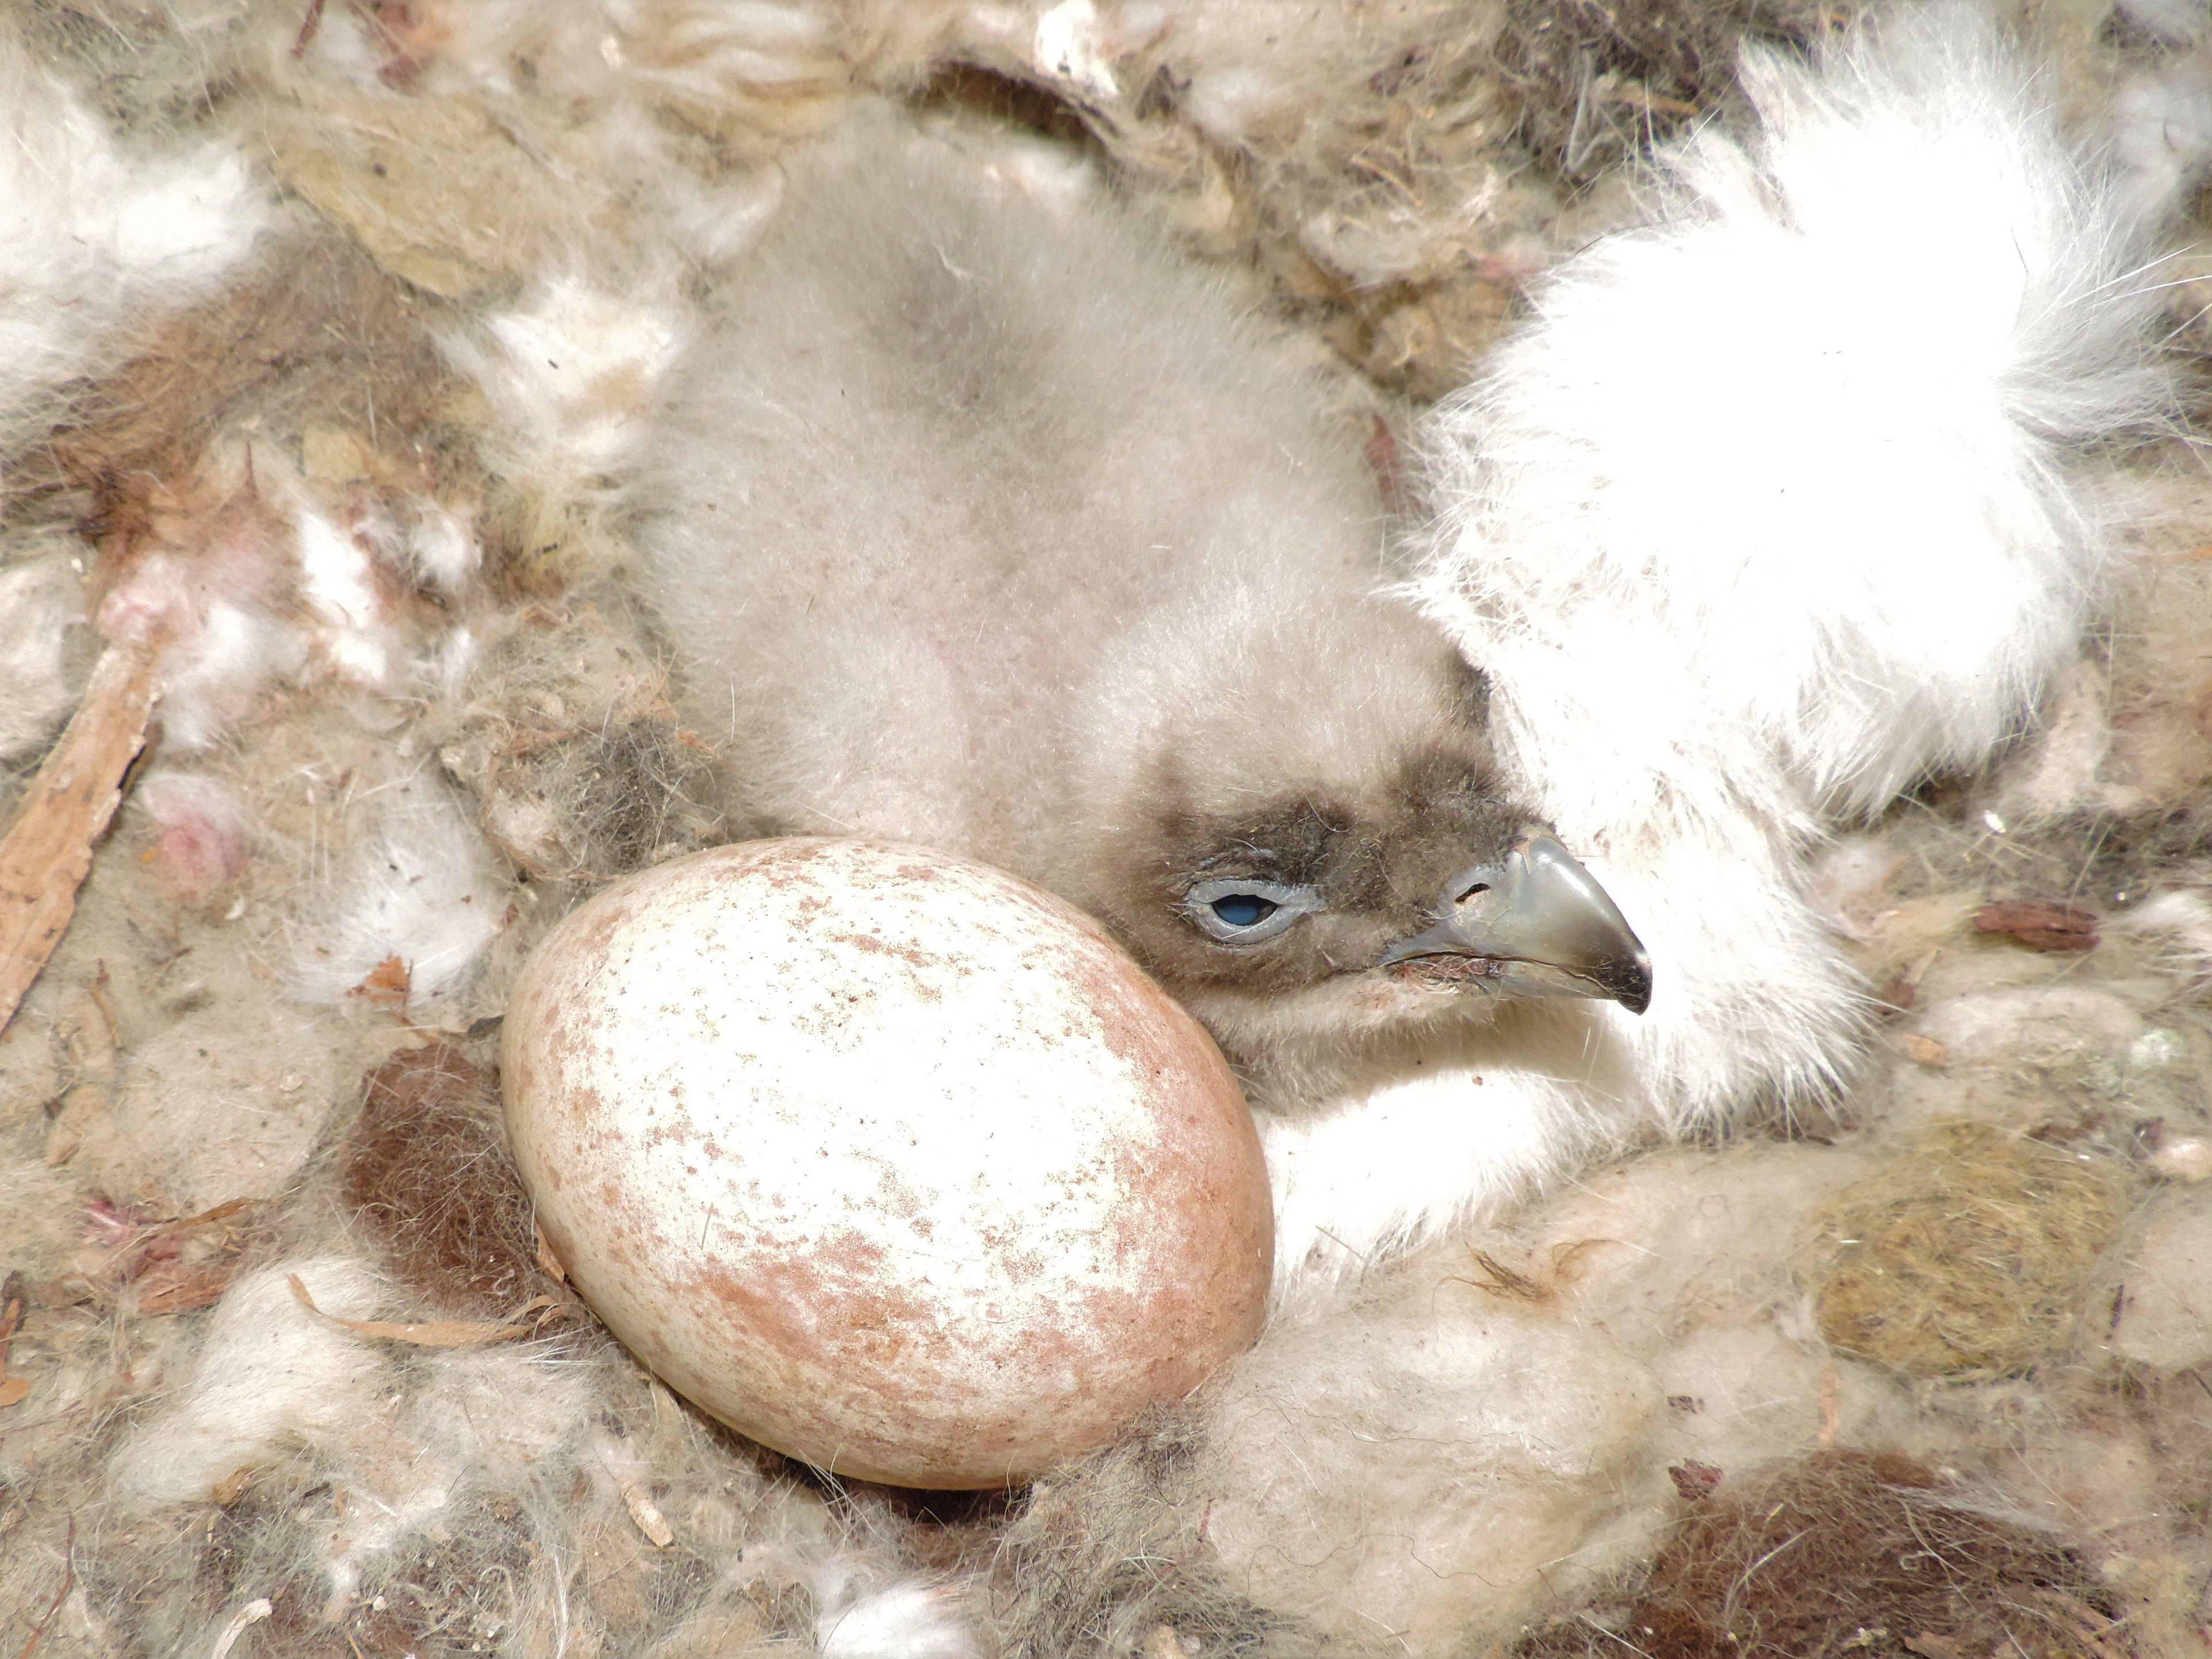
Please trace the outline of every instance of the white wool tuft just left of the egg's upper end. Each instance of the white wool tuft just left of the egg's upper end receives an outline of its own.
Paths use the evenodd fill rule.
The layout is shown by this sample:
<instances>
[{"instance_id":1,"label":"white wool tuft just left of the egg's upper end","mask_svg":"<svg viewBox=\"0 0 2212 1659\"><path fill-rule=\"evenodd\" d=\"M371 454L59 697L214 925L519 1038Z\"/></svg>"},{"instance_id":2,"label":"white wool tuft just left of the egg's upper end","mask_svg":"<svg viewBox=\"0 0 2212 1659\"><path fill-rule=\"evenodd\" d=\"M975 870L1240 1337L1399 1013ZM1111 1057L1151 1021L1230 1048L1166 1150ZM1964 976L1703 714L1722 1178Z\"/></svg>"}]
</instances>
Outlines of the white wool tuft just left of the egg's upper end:
<instances>
[{"instance_id":1,"label":"white wool tuft just left of the egg's upper end","mask_svg":"<svg viewBox=\"0 0 2212 1659\"><path fill-rule=\"evenodd\" d=\"M407 1002L467 987L507 925L507 885L482 836L422 776L383 785L376 827L292 936L292 987L343 1002L389 958L407 967Z\"/></svg>"}]
</instances>

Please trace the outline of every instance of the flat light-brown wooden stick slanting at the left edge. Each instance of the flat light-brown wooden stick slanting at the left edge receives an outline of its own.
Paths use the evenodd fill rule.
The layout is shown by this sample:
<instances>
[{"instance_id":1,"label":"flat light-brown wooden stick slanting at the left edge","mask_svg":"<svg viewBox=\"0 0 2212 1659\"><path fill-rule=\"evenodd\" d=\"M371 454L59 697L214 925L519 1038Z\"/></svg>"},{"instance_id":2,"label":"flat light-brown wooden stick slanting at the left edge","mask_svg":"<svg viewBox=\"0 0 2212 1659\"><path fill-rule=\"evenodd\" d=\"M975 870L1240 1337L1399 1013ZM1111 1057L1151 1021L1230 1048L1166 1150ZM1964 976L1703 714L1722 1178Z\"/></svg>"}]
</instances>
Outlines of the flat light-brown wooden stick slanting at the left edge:
<instances>
[{"instance_id":1,"label":"flat light-brown wooden stick slanting at the left edge","mask_svg":"<svg viewBox=\"0 0 2212 1659\"><path fill-rule=\"evenodd\" d=\"M0 1031L69 931L93 843L115 816L124 772L146 743L153 699L155 653L108 646L0 841Z\"/></svg>"}]
</instances>

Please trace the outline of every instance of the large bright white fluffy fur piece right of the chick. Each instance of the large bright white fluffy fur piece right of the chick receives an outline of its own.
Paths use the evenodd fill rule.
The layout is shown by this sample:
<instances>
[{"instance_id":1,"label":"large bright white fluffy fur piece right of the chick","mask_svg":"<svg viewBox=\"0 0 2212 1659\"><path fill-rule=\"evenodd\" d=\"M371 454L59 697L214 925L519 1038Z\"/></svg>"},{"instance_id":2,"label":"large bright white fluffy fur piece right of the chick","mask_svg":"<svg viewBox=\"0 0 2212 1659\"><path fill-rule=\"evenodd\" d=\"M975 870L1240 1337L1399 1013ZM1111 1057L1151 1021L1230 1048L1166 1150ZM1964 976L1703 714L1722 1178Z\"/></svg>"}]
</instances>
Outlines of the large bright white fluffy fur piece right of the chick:
<instances>
[{"instance_id":1,"label":"large bright white fluffy fur piece right of the chick","mask_svg":"<svg viewBox=\"0 0 2212 1659\"><path fill-rule=\"evenodd\" d=\"M2168 394L2137 226L2035 75L1938 9L1743 80L1759 133L1672 153L1650 226L1542 283L1425 434L1416 593L1650 949L1652 1006L1528 1015L1579 1031L1270 1130L1294 1274L1637 1124L1832 1091L1865 1002L1803 894L1818 814L1984 761L2097 599L2066 445Z\"/></svg>"}]
</instances>

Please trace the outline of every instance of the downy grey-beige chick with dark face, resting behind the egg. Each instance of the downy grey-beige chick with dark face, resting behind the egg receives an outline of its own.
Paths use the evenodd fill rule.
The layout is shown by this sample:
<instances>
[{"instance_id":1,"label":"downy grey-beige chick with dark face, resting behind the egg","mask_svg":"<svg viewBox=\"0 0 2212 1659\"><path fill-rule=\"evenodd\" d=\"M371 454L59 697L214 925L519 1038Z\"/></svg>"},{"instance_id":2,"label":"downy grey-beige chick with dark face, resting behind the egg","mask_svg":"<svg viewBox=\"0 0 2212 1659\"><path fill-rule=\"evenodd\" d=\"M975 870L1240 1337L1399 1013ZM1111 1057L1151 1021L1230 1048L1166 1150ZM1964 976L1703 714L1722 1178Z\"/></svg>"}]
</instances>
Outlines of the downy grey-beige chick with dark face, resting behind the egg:
<instances>
[{"instance_id":1,"label":"downy grey-beige chick with dark face, resting behind the egg","mask_svg":"<svg viewBox=\"0 0 2212 1659\"><path fill-rule=\"evenodd\" d=\"M792 170L675 376L646 582L737 836L872 834L1106 922L1256 1104L1650 964L1380 591L1314 372L1066 164L887 115Z\"/></svg>"}]
</instances>

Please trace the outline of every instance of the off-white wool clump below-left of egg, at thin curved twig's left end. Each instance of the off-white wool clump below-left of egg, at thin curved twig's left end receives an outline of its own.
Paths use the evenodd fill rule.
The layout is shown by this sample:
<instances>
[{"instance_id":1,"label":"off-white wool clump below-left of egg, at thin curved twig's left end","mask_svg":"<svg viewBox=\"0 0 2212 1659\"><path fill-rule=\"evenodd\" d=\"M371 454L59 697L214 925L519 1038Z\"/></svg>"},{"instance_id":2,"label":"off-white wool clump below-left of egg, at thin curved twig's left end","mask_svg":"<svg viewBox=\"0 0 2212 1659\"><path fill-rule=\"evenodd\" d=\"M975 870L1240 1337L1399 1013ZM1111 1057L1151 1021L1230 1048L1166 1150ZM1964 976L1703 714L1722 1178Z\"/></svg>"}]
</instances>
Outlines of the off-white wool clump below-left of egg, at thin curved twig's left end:
<instances>
[{"instance_id":1,"label":"off-white wool clump below-left of egg, at thin curved twig's left end","mask_svg":"<svg viewBox=\"0 0 2212 1659\"><path fill-rule=\"evenodd\" d=\"M321 1314L299 1301L294 1274ZM115 1453L117 1493L144 1506L206 1502L237 1471L372 1418L385 1363L323 1314L365 1318L383 1296L376 1274L345 1256L285 1261L234 1283L190 1380Z\"/></svg>"}]
</instances>

